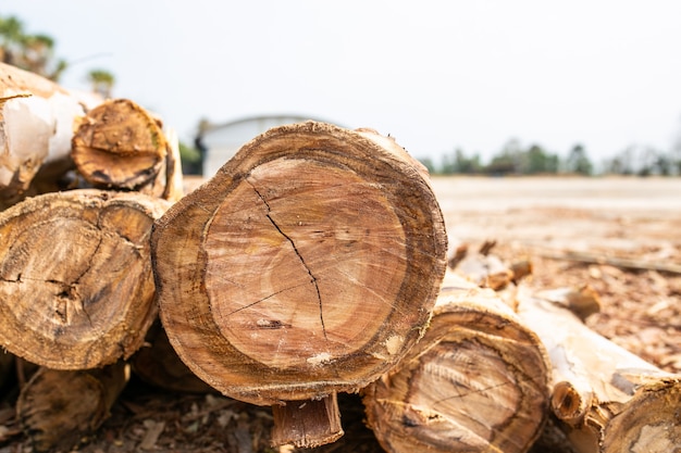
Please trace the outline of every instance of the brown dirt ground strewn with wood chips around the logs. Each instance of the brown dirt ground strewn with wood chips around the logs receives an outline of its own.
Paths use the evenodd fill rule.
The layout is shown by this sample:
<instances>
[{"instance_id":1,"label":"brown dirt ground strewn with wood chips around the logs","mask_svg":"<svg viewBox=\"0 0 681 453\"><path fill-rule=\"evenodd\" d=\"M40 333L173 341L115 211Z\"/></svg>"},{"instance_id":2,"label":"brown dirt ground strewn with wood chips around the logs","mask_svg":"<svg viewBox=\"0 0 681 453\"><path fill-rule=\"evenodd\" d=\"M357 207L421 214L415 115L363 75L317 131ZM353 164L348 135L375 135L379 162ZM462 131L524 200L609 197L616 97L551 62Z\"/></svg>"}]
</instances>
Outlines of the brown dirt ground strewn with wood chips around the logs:
<instances>
[{"instance_id":1,"label":"brown dirt ground strewn with wood chips around the logs","mask_svg":"<svg viewBox=\"0 0 681 453\"><path fill-rule=\"evenodd\" d=\"M603 309L589 326L658 367L681 373L681 273L673 268L681 265L681 178L435 177L433 188L451 247L495 240L493 253L506 263L531 261L533 274L523 285L592 286ZM345 436L306 451L381 452L363 425L359 397L340 395L339 402ZM16 431L11 404L12 392L0 407L7 439L0 453L32 452L29 440ZM214 393L168 392L133 377L111 417L74 450L296 451L270 448L271 426L268 407ZM533 450L544 451L558 449Z\"/></svg>"}]
</instances>

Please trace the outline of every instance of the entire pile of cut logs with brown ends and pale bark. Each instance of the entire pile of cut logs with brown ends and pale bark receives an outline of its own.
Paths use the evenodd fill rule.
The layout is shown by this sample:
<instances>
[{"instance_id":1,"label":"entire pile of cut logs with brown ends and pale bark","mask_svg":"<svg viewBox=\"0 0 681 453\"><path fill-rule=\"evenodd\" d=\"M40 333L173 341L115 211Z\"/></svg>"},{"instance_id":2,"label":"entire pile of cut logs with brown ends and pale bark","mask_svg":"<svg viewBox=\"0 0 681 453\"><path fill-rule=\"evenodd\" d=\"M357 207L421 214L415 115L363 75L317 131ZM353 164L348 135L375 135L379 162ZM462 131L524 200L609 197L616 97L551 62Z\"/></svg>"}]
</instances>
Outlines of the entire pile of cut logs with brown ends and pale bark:
<instances>
[{"instance_id":1,"label":"entire pile of cut logs with brown ends and pale bark","mask_svg":"<svg viewBox=\"0 0 681 453\"><path fill-rule=\"evenodd\" d=\"M176 136L133 101L7 65L0 93L0 380L34 451L96 431L131 373L270 406L280 451L343 437L346 392L388 453L681 445L681 377L589 329L593 289L530 292L494 242L448 256L394 139L276 127L185 196Z\"/></svg>"}]
</instances>

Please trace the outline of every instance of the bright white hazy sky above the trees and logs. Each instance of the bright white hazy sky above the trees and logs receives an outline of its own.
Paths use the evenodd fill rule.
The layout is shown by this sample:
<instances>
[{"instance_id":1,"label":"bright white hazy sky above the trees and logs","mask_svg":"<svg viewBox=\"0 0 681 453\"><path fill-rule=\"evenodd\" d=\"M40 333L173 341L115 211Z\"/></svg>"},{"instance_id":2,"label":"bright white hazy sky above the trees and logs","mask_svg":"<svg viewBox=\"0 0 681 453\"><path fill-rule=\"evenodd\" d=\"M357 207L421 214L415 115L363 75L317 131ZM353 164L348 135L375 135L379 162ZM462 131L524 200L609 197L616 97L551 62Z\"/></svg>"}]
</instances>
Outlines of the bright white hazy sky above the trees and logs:
<instances>
[{"instance_id":1,"label":"bright white hazy sky above the trees and logs","mask_svg":"<svg viewBox=\"0 0 681 453\"><path fill-rule=\"evenodd\" d=\"M0 0L113 96L198 123L299 114L439 162L511 139L592 161L681 143L678 0Z\"/></svg>"}]
</instances>

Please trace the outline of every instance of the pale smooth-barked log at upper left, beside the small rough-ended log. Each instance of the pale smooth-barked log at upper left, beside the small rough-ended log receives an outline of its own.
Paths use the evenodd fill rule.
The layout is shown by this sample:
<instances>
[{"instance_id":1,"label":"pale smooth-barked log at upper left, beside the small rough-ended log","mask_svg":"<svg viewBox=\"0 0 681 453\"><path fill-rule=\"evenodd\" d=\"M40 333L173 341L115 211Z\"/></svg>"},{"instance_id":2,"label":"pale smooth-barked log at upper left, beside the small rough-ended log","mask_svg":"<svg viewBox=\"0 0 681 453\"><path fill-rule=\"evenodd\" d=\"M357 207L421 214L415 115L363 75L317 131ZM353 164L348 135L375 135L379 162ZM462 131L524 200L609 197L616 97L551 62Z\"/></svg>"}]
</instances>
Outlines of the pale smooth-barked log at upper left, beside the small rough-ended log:
<instances>
[{"instance_id":1,"label":"pale smooth-barked log at upper left, beside the small rough-ended log","mask_svg":"<svg viewBox=\"0 0 681 453\"><path fill-rule=\"evenodd\" d=\"M0 63L0 204L21 200L41 167L73 166L74 123L84 114L77 96Z\"/></svg>"}]
</instances>

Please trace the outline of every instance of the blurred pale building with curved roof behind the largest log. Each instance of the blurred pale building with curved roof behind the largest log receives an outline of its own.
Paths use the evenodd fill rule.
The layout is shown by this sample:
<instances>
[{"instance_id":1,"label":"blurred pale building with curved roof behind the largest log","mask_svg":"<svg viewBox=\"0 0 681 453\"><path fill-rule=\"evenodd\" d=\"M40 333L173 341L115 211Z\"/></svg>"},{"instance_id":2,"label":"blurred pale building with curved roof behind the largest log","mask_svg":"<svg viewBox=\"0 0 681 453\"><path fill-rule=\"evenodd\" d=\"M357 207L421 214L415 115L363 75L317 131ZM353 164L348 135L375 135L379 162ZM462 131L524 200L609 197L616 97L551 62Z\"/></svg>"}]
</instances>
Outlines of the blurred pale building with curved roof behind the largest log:
<instances>
[{"instance_id":1,"label":"blurred pale building with curved roof behind the largest log","mask_svg":"<svg viewBox=\"0 0 681 453\"><path fill-rule=\"evenodd\" d=\"M285 124L301 123L308 119L326 122L301 115L249 116L224 124L207 125L198 144L203 153L203 177L212 177L246 142L265 130Z\"/></svg>"}]
</instances>

